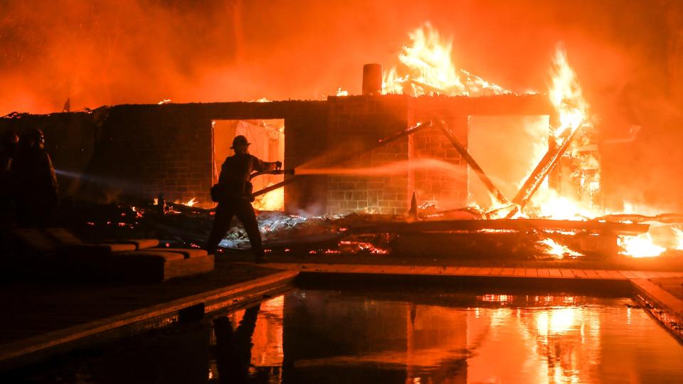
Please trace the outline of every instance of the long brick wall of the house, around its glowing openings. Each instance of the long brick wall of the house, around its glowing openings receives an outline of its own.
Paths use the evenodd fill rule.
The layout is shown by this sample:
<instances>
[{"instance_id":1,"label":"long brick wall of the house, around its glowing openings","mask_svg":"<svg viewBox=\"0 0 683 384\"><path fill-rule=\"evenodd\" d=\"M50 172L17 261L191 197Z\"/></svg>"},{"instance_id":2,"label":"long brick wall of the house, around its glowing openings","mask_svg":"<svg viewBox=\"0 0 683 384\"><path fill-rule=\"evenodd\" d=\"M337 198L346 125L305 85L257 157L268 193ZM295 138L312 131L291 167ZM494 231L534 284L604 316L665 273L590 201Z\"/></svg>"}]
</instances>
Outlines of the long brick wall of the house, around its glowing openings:
<instances>
[{"instance_id":1,"label":"long brick wall of the house, around its glowing openings","mask_svg":"<svg viewBox=\"0 0 683 384\"><path fill-rule=\"evenodd\" d=\"M406 213L411 193L441 208L467 202L466 166L438 129L376 146L415 122L445 119L467 146L467 116L549 114L545 97L329 97L326 101L119 105L88 113L23 114L0 128L40 124L58 168L83 171L89 197L139 201L159 193L169 201L197 198L211 205L213 119L285 119L287 168L381 169L383 174L307 176L285 187L292 213ZM440 159L451 171L410 166ZM457 169L461 169L458 177ZM289 177L289 176L287 176Z\"/></svg>"}]
</instances>

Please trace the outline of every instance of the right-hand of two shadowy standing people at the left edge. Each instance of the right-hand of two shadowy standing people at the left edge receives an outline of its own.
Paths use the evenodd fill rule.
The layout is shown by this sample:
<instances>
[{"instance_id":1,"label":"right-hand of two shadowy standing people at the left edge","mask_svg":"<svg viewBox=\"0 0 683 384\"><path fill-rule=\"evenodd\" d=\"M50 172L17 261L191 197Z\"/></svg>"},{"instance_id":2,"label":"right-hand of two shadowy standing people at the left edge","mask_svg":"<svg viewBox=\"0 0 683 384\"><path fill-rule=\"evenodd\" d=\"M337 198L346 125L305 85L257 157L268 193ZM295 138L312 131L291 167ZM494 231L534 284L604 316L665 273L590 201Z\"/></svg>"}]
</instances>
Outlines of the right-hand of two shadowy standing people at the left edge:
<instances>
[{"instance_id":1,"label":"right-hand of two shadowy standing people at the left edge","mask_svg":"<svg viewBox=\"0 0 683 384\"><path fill-rule=\"evenodd\" d=\"M57 177L50 155L45 151L45 135L40 129L31 129L21 135L16 158L11 163L10 178L18 225L23 228L53 225L59 202Z\"/></svg>"}]
</instances>

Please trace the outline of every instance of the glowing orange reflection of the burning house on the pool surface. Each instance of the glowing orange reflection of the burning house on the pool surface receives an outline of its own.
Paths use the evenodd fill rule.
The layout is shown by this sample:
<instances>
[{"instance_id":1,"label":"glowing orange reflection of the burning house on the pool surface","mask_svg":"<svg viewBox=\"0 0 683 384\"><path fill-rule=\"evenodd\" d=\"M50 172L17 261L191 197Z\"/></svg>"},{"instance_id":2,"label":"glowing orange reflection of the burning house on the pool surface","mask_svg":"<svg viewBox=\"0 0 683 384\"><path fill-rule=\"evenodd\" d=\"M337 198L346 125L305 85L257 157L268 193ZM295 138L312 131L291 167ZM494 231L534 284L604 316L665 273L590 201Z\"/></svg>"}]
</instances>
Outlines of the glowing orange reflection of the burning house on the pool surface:
<instances>
[{"instance_id":1,"label":"glowing orange reflection of the burning house on the pool surface","mask_svg":"<svg viewBox=\"0 0 683 384\"><path fill-rule=\"evenodd\" d=\"M440 295L439 304L433 301L332 291L277 297L262 304L255 321L248 379L231 378L259 383L683 380L683 346L642 309L630 307L630 299L485 294ZM239 311L230 319L241 324L247 317Z\"/></svg>"}]
</instances>

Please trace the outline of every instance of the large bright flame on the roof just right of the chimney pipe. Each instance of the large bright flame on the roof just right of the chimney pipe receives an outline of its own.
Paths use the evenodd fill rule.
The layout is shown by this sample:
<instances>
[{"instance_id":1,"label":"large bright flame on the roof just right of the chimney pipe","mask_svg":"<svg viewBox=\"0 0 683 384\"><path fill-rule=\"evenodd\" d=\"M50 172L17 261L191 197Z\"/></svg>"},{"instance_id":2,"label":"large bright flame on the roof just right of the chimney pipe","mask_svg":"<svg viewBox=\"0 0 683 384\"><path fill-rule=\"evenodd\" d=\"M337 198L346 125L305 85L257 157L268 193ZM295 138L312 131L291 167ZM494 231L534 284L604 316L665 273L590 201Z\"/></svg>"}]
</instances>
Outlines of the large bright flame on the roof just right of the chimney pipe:
<instances>
[{"instance_id":1,"label":"large bright flame on the roof just right of the chimney pipe","mask_svg":"<svg viewBox=\"0 0 683 384\"><path fill-rule=\"evenodd\" d=\"M394 66L383 76L383 94L406 91L414 96L512 93L466 70L455 68L452 38L443 38L430 23L408 33L408 36L411 46L404 46L398 55L401 68Z\"/></svg>"}]
</instances>

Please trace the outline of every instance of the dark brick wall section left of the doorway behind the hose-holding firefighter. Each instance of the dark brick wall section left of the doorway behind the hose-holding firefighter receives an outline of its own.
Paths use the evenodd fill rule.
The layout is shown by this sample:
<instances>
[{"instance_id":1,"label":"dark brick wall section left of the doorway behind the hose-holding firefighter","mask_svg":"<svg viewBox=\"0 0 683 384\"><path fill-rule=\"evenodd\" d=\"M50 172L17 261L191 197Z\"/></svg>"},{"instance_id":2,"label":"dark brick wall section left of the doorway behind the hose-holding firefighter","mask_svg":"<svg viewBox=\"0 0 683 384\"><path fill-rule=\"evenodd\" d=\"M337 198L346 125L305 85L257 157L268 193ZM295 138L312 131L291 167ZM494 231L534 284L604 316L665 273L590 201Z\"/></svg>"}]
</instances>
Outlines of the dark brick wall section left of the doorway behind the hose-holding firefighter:
<instances>
[{"instance_id":1,"label":"dark brick wall section left of the doorway behind the hose-holding firefighter","mask_svg":"<svg viewBox=\"0 0 683 384\"><path fill-rule=\"evenodd\" d=\"M211 119L195 105L118 105L102 124L86 193L105 201L211 201Z\"/></svg>"}]
</instances>

